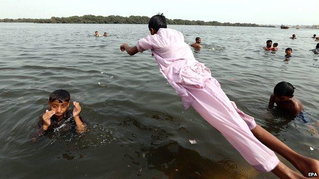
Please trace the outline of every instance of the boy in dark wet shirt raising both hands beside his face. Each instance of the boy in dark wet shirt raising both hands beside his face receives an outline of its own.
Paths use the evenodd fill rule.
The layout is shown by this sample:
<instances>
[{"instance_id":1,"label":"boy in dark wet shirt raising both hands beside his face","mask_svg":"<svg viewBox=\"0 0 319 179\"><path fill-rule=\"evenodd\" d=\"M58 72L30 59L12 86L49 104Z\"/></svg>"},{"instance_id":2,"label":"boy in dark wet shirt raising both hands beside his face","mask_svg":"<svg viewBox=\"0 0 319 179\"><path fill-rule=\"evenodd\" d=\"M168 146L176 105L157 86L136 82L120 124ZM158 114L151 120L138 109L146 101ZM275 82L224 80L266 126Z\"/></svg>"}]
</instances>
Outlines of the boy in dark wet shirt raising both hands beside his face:
<instances>
[{"instance_id":1,"label":"boy in dark wet shirt raising both hands beside his face","mask_svg":"<svg viewBox=\"0 0 319 179\"><path fill-rule=\"evenodd\" d=\"M70 93L66 90L55 90L49 97L49 110L39 117L37 131L34 137L54 132L57 127L65 125L63 129L72 130L76 133L83 133L86 125L80 117L81 107L76 101L73 102L74 109L69 109ZM71 119L72 118L72 119Z\"/></svg>"}]
</instances>

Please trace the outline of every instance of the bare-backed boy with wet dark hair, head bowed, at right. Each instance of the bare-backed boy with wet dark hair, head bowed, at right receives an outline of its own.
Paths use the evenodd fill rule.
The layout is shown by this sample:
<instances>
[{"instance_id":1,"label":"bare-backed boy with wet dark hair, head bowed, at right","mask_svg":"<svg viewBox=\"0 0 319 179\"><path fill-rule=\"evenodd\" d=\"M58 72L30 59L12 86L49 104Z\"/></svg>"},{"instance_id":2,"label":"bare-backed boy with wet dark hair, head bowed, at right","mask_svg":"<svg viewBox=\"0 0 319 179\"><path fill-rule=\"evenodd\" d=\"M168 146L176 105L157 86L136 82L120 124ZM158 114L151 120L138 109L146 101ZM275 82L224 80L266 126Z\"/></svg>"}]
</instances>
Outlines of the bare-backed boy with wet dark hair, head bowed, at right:
<instances>
[{"instance_id":1,"label":"bare-backed boy with wet dark hair, head bowed, at right","mask_svg":"<svg viewBox=\"0 0 319 179\"><path fill-rule=\"evenodd\" d=\"M291 115L295 115L307 123L310 121L309 117L304 112L304 107L301 102L293 97L295 87L288 82L280 82L274 88L274 93L269 99L268 108L274 108L276 103L278 107L284 109Z\"/></svg>"}]
</instances>

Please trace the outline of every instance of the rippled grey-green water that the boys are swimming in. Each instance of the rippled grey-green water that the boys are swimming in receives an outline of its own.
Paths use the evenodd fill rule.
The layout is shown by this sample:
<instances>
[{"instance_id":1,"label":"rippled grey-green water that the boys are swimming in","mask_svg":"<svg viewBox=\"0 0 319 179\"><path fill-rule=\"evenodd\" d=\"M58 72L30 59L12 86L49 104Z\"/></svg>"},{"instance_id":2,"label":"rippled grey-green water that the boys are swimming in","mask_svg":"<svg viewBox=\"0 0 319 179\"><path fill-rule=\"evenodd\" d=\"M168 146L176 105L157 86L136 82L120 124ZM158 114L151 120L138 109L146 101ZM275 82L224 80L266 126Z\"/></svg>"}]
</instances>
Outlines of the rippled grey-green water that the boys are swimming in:
<instances>
[{"instance_id":1,"label":"rippled grey-green water that the boys are swimming in","mask_svg":"<svg viewBox=\"0 0 319 179\"><path fill-rule=\"evenodd\" d=\"M201 37L195 58L239 109L292 149L319 159L319 56L308 51L317 31L169 28L182 32L187 43ZM94 37L96 30L109 36ZM0 23L2 177L277 178L257 172L194 109L184 110L150 51L132 57L120 52L121 43L134 45L148 34L146 24ZM289 39L292 34L297 39ZM268 39L279 43L278 52L264 52ZM284 61L286 47L293 49L290 61ZM267 110L281 81L297 87L294 95L310 123ZM88 132L57 132L34 143L29 136L56 89L80 102Z\"/></svg>"}]
</instances>

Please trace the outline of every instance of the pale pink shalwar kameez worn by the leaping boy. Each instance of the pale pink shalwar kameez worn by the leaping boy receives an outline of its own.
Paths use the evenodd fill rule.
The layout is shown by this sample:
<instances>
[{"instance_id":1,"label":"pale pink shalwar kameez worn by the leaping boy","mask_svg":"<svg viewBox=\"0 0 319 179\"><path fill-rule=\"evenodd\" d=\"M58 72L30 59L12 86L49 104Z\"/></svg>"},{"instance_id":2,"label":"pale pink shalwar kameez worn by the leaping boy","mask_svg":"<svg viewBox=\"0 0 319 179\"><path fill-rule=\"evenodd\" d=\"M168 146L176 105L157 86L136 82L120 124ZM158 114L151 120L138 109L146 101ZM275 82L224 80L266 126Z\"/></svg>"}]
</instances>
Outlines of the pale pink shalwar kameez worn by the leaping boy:
<instances>
[{"instance_id":1,"label":"pale pink shalwar kameez worn by the leaping boy","mask_svg":"<svg viewBox=\"0 0 319 179\"><path fill-rule=\"evenodd\" d=\"M184 36L173 29L159 29L140 39L139 52L151 49L159 70L181 96L185 109L193 108L213 125L258 171L268 172L279 164L274 151L263 145L250 131L253 117L237 109L212 78L210 69L195 60Z\"/></svg>"}]
</instances>

